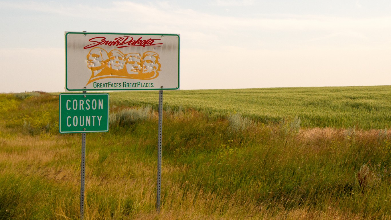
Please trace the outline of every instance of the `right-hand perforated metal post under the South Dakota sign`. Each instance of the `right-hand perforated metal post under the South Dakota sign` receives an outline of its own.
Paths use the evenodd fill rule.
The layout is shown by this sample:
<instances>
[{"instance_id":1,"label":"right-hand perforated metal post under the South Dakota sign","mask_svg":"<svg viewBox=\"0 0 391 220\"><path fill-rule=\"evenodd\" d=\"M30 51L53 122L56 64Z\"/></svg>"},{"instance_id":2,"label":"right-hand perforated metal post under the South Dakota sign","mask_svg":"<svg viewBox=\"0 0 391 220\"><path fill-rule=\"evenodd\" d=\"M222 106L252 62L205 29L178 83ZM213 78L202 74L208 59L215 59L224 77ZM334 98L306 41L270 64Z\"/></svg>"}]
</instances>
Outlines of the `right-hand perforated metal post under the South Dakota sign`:
<instances>
[{"instance_id":1,"label":"right-hand perforated metal post under the South Dakota sign","mask_svg":"<svg viewBox=\"0 0 391 220\"><path fill-rule=\"evenodd\" d=\"M158 130L158 184L156 196L156 211L160 212L160 185L161 185L161 139L163 130L163 90L159 90L159 130Z\"/></svg>"}]
</instances>

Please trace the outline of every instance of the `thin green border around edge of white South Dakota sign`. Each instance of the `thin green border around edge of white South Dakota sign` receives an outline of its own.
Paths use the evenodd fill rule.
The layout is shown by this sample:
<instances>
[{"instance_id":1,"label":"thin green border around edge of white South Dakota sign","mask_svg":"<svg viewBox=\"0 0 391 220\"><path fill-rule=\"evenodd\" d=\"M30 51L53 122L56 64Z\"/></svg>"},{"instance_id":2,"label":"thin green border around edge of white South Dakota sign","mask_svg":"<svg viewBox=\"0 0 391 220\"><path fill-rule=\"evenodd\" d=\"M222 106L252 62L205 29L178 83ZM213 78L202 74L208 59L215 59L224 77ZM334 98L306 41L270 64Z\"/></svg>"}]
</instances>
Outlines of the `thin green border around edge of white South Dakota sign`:
<instances>
[{"instance_id":1,"label":"thin green border around edge of white South Dakota sign","mask_svg":"<svg viewBox=\"0 0 391 220\"><path fill-rule=\"evenodd\" d=\"M113 34L113 35L156 35L156 36L178 36L178 87L177 88L146 88L146 89L68 89L68 51L67 51L67 36L68 34ZM65 89L68 91L131 91L131 90L178 90L180 85L180 74L179 74L179 66L180 66L180 51L181 51L181 44L180 44L180 36L179 34L135 34L135 33L105 33L105 32L65 32Z\"/></svg>"}]
</instances>

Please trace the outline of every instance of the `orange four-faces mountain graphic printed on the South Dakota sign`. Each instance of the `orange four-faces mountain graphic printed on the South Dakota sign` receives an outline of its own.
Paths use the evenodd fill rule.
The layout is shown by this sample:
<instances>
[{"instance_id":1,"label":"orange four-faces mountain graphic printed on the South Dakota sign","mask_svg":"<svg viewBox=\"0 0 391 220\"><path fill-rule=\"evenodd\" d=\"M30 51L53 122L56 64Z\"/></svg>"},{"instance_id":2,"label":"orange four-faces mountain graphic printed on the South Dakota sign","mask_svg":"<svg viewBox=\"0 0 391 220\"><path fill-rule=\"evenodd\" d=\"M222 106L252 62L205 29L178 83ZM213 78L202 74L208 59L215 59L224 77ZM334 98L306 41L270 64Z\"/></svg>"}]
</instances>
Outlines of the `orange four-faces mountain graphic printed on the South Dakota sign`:
<instances>
[{"instance_id":1,"label":"orange four-faces mountain graphic printed on the South Dakota sign","mask_svg":"<svg viewBox=\"0 0 391 220\"><path fill-rule=\"evenodd\" d=\"M91 77L86 85L104 78L155 79L161 70L159 54L152 51L124 54L95 47L88 52L87 62Z\"/></svg>"}]
</instances>

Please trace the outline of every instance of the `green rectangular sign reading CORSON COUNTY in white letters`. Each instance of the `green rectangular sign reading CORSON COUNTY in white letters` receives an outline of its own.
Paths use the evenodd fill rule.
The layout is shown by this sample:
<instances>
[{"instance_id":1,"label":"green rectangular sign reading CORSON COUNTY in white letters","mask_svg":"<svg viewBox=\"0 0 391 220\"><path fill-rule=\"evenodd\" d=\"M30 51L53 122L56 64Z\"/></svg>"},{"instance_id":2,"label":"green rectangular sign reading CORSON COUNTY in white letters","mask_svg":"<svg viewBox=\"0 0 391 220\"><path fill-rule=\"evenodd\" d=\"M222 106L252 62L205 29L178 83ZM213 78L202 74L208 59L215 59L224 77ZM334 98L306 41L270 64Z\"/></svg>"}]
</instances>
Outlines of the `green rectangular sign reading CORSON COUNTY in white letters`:
<instances>
[{"instance_id":1,"label":"green rectangular sign reading CORSON COUNTY in white letters","mask_svg":"<svg viewBox=\"0 0 391 220\"><path fill-rule=\"evenodd\" d=\"M60 94L59 132L107 132L109 94Z\"/></svg>"}]
</instances>

